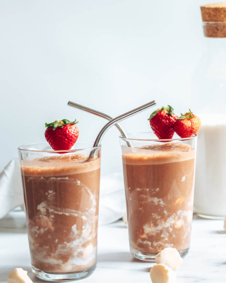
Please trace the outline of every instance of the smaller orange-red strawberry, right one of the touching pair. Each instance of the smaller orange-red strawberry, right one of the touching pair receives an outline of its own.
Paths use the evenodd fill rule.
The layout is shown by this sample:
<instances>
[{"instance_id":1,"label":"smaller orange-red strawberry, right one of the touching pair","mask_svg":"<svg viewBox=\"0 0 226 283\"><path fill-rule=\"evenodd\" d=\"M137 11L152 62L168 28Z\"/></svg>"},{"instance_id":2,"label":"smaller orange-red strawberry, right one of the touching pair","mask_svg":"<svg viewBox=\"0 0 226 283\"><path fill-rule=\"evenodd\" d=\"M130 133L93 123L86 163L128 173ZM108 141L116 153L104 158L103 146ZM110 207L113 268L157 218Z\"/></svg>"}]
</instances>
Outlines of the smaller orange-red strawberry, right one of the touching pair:
<instances>
[{"instance_id":1,"label":"smaller orange-red strawberry, right one of the touching pair","mask_svg":"<svg viewBox=\"0 0 226 283\"><path fill-rule=\"evenodd\" d=\"M174 130L181 138L190 137L192 134L197 134L201 126L201 121L198 116L194 115L189 109L189 112L182 114L174 124Z\"/></svg>"}]
</instances>

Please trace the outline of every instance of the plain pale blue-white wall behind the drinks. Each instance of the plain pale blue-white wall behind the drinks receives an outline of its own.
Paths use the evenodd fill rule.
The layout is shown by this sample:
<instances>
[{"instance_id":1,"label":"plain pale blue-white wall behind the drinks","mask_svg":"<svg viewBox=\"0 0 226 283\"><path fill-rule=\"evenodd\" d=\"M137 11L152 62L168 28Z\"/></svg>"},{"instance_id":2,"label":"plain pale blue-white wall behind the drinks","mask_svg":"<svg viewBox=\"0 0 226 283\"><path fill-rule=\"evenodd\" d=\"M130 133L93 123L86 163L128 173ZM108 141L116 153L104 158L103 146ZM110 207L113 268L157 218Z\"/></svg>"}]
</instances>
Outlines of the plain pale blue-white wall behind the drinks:
<instances>
[{"instance_id":1,"label":"plain pale blue-white wall behind the drinks","mask_svg":"<svg viewBox=\"0 0 226 283\"><path fill-rule=\"evenodd\" d=\"M45 122L78 119L79 141L106 120L155 99L192 108L191 78L202 55L200 0L0 0L0 170L22 144L44 142ZM121 124L149 131L153 109ZM102 146L102 174L121 171L119 132Z\"/></svg>"}]
</instances>

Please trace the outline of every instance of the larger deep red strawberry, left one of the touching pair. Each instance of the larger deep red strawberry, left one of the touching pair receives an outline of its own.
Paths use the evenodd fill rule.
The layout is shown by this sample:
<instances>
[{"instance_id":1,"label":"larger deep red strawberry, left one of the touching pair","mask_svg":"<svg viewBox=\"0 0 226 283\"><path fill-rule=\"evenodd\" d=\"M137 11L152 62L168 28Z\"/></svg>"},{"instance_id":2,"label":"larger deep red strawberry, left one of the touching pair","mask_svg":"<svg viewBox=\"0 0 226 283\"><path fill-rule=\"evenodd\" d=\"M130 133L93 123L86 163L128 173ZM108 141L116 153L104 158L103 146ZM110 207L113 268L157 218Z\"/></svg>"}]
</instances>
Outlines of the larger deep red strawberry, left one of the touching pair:
<instances>
[{"instance_id":1,"label":"larger deep red strawberry, left one of the touching pair","mask_svg":"<svg viewBox=\"0 0 226 283\"><path fill-rule=\"evenodd\" d=\"M148 119L152 130L159 139L171 139L174 135L173 125L176 122L177 116L174 114L174 109L162 107L155 110Z\"/></svg>"}]
</instances>

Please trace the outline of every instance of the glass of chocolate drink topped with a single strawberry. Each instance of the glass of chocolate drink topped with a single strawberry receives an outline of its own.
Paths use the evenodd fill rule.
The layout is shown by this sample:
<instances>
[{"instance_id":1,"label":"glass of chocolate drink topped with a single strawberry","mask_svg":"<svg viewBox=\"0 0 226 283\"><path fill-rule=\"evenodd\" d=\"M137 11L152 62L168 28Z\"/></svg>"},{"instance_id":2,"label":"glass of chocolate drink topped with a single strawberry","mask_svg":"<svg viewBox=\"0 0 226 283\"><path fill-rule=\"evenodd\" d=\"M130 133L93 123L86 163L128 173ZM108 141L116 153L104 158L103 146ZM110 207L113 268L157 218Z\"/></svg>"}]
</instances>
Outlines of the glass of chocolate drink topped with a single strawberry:
<instances>
[{"instance_id":1,"label":"glass of chocolate drink topped with a single strawberry","mask_svg":"<svg viewBox=\"0 0 226 283\"><path fill-rule=\"evenodd\" d=\"M96 267L100 147L92 145L19 147L32 271L43 280L82 279Z\"/></svg>"}]
</instances>

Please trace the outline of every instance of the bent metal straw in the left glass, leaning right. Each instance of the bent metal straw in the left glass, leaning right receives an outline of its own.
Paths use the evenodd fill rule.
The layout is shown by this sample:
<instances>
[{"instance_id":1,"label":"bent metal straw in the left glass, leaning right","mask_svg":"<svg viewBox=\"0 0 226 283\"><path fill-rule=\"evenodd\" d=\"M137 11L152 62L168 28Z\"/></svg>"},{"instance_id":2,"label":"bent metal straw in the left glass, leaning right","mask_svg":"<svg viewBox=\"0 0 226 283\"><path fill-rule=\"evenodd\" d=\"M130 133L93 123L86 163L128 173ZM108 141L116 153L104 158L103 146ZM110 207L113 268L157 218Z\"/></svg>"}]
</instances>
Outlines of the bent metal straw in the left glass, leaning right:
<instances>
[{"instance_id":1,"label":"bent metal straw in the left glass, leaning right","mask_svg":"<svg viewBox=\"0 0 226 283\"><path fill-rule=\"evenodd\" d=\"M120 115L120 116L117 116L116 118L110 120L110 121L100 130L100 132L99 132L99 134L98 134L98 136L97 136L97 138L96 138L96 140L95 140L95 142L94 142L93 147L98 147L98 146L100 146L100 142L101 142L101 140L102 140L104 134L106 133L106 131L107 131L110 127L112 127L112 126L115 125L116 123L118 123L118 122L120 122L120 121L122 121L122 120L124 120L124 119L126 119L126 118L129 118L129 117L131 117L131 116L133 116L133 115L135 115L135 114L138 114L138 113L140 113L140 112L143 112L144 110L146 110L146 109L148 109L148 108L151 108L151 107L153 107L153 106L155 106L155 105L156 105L156 102L155 102L155 100L153 100L153 101L151 101L151 102L148 102L148 103L146 103L146 104L144 104L144 105L142 105L142 106L140 106L140 107L137 107L137 108L135 108L135 109L133 109L133 110L131 110L131 111L129 111L129 112L126 112L126 113L124 113L124 114L122 114L122 115ZM92 151L90 152L89 158L92 158L92 157L93 157L93 155L95 154L95 151L96 151L96 149L94 149L94 150L92 150ZM89 158L88 158L88 160L89 160ZM86 161L88 161L88 160L86 160Z\"/></svg>"}]
</instances>

